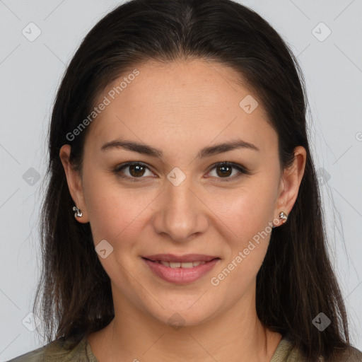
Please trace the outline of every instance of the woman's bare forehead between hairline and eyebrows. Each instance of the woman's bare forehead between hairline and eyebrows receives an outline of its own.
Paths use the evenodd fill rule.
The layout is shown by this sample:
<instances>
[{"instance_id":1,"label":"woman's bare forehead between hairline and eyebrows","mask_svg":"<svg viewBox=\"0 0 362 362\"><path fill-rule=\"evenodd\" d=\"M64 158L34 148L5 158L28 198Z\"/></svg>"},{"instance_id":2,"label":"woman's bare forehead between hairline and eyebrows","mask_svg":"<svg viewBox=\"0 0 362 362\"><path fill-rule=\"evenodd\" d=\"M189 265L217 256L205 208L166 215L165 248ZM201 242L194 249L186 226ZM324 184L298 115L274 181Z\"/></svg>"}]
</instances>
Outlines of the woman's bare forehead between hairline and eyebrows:
<instances>
[{"instance_id":1,"label":"woman's bare forehead between hairline and eyebrows","mask_svg":"<svg viewBox=\"0 0 362 362\"><path fill-rule=\"evenodd\" d=\"M235 136L260 148L276 143L257 94L220 63L149 61L110 83L98 103L105 98L108 104L88 129L92 144L117 136L165 146L168 139L204 145Z\"/></svg>"}]
</instances>

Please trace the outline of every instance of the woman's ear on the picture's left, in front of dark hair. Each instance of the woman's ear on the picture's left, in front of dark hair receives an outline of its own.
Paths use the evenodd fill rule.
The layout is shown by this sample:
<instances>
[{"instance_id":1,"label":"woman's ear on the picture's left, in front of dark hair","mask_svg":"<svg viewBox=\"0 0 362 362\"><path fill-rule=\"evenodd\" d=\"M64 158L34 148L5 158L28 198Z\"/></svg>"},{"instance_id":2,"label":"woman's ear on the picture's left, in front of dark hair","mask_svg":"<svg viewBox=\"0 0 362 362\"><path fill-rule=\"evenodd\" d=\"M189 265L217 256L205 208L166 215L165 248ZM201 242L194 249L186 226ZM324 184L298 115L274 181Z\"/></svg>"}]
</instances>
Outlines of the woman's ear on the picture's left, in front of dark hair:
<instances>
[{"instance_id":1,"label":"woman's ear on the picture's left, in front of dark hair","mask_svg":"<svg viewBox=\"0 0 362 362\"><path fill-rule=\"evenodd\" d=\"M64 144L62 148L60 148L59 157L62 160L64 171L66 174L66 182L68 183L71 198L74 201L74 205L78 207L78 209L81 209L81 212L83 213L83 216L81 216L80 218L76 218L76 220L80 223L88 223L89 218L83 194L81 175L77 170L74 170L73 165L69 161L70 154L71 146L69 144Z\"/></svg>"}]
</instances>

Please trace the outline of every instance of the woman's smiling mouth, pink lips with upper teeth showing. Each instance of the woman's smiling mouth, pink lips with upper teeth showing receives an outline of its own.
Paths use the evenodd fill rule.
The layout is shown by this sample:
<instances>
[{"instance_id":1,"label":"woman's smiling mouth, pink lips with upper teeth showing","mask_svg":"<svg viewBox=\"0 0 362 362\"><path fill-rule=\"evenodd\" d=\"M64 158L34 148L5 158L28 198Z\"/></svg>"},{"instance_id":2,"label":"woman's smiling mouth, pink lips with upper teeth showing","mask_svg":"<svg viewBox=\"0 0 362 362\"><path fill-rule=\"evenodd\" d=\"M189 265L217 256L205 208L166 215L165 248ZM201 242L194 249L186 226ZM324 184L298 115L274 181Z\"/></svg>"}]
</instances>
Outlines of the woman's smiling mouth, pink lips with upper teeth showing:
<instances>
[{"instance_id":1,"label":"woman's smiling mouth, pink lips with upper teeth showing","mask_svg":"<svg viewBox=\"0 0 362 362\"><path fill-rule=\"evenodd\" d=\"M158 254L142 259L160 279L173 284L187 284L206 275L221 258L200 254Z\"/></svg>"}]
</instances>

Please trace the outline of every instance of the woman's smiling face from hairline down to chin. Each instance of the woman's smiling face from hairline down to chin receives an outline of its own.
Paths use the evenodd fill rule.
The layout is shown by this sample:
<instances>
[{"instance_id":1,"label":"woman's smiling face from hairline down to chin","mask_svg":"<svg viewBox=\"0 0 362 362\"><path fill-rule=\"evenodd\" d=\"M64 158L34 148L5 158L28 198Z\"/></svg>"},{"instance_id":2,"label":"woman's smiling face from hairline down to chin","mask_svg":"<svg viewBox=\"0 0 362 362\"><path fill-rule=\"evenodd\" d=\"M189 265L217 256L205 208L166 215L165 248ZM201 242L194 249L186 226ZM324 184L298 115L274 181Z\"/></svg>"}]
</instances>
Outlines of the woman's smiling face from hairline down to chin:
<instances>
[{"instance_id":1,"label":"woman's smiling face from hairline down to chin","mask_svg":"<svg viewBox=\"0 0 362 362\"><path fill-rule=\"evenodd\" d=\"M186 325L248 308L271 223L293 206L300 174L284 180L278 136L233 69L201 59L136 69L115 99L108 92L127 74L99 98L110 104L88 126L81 178L67 172L115 305L161 322L179 313ZM159 254L204 259L145 259Z\"/></svg>"}]
</instances>

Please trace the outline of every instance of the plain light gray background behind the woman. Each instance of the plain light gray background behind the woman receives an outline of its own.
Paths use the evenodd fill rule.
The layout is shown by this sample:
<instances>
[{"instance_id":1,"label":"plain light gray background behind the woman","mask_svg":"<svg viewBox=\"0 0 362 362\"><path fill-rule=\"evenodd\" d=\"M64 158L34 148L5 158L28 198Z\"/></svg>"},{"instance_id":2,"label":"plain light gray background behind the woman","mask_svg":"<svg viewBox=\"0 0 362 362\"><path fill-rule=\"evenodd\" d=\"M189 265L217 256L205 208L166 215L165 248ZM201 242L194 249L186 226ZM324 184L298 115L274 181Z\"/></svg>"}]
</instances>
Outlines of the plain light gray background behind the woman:
<instances>
[{"instance_id":1,"label":"plain light gray background behind the woman","mask_svg":"<svg viewBox=\"0 0 362 362\"><path fill-rule=\"evenodd\" d=\"M305 74L329 250L352 342L362 349L362 1L239 2L276 28ZM36 329L31 331L36 318L28 314L40 267L37 223L47 124L66 64L93 25L117 4L0 0L0 361L44 344ZM31 22L41 31L32 42L28 37L36 28ZM326 37L328 29L332 33Z\"/></svg>"}]
</instances>

